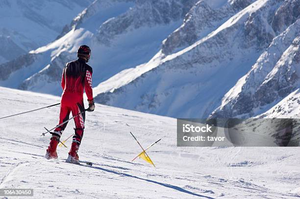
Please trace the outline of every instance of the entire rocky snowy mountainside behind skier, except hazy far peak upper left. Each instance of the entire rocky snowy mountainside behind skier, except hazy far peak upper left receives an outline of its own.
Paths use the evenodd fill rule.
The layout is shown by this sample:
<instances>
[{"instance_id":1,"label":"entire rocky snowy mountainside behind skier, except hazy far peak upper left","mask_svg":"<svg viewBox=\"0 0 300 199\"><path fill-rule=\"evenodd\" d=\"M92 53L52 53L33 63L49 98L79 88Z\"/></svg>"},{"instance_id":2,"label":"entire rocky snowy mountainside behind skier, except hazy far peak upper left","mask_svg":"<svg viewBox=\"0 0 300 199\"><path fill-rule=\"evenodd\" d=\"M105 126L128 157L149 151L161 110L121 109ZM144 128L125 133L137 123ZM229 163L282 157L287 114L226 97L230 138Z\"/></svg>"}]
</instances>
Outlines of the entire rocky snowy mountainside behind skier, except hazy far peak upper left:
<instances>
[{"instance_id":1,"label":"entire rocky snowy mountainside behind skier, except hazy far peak upper left","mask_svg":"<svg viewBox=\"0 0 300 199\"><path fill-rule=\"evenodd\" d=\"M57 40L0 65L0 85L60 95L63 66L87 44L101 104L264 115L299 88L299 14L299 0L96 0Z\"/></svg>"}]
</instances>

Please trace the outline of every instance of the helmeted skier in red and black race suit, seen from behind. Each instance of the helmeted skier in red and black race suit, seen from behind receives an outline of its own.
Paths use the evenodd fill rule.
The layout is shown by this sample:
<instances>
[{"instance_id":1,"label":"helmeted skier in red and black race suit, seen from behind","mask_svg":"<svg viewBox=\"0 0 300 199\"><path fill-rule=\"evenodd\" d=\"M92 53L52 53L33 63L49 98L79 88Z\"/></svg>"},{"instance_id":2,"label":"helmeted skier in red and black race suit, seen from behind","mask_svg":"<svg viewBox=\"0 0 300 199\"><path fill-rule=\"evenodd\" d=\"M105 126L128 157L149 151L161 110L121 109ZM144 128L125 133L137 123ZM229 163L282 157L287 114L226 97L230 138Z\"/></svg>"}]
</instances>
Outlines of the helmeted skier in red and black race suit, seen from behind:
<instances>
[{"instance_id":1,"label":"helmeted skier in red and black race suit, seen from behind","mask_svg":"<svg viewBox=\"0 0 300 199\"><path fill-rule=\"evenodd\" d=\"M78 59L66 64L61 79L61 87L63 89L60 113L59 113L59 124L68 120L70 112L75 116L76 114L84 111L83 104L83 89L88 97L89 108L87 111L94 111L95 104L93 99L93 89L92 89L92 67L86 63L89 61L91 56L91 49L87 45L79 46L77 50ZM85 113L79 114L74 118L75 121L75 135L73 136L73 141L69 156L66 162L76 163L79 161L79 156L77 154L84 130ZM65 130L68 122L60 127L57 127L50 138L50 144L47 149L45 158L56 159L56 147L59 143L60 136Z\"/></svg>"}]
</instances>

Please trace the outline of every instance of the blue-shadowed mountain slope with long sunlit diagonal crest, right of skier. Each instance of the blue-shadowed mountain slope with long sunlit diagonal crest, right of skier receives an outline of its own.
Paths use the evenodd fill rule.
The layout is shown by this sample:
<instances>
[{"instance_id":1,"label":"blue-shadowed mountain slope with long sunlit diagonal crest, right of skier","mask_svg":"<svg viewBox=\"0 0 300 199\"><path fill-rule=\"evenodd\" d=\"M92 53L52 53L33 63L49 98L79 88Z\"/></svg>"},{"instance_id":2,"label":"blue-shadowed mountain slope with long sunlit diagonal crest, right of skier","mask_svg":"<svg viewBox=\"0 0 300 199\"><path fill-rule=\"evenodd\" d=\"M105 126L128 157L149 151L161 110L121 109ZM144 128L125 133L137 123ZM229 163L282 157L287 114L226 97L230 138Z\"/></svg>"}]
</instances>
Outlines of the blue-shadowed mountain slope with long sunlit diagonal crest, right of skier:
<instances>
[{"instance_id":1,"label":"blue-shadowed mountain slope with long sunlit diagonal crest, right of skier","mask_svg":"<svg viewBox=\"0 0 300 199\"><path fill-rule=\"evenodd\" d=\"M206 28L204 23L203 33L208 33L199 35L200 40L168 56L161 50L143 66L144 69L149 68L148 72L146 70L143 75L119 88L107 89L96 96L96 100L107 105L174 117L207 117L278 34L272 28L273 18L284 3L284 0L257 0L220 26L218 23L230 15L216 19L217 27L212 32L208 31L211 27ZM195 6L202 7L203 2ZM209 7L208 4L205 6ZM228 7L217 8L225 11ZM196 7L190 10L191 18L198 16L193 14L194 9ZM285 26L292 21L285 22ZM189 33L188 28L182 31ZM175 45L175 51L177 46L184 47L185 44Z\"/></svg>"}]
</instances>

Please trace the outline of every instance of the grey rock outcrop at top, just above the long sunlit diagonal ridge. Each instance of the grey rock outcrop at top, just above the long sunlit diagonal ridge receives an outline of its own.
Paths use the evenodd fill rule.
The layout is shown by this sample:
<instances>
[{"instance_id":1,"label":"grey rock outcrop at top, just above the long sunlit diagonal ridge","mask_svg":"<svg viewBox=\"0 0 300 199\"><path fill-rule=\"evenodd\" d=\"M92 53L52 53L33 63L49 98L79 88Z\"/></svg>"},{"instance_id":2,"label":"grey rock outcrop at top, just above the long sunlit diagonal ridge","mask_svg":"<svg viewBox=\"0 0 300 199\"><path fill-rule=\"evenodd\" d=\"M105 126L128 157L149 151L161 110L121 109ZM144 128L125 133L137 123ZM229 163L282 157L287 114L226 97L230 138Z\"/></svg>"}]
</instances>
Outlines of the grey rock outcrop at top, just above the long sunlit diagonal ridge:
<instances>
[{"instance_id":1,"label":"grey rock outcrop at top, just above the long sunlit diagonal ridge","mask_svg":"<svg viewBox=\"0 0 300 199\"><path fill-rule=\"evenodd\" d=\"M255 0L231 0L221 7L211 7L210 1L200 0L185 16L183 24L163 42L166 55L194 44Z\"/></svg>"}]
</instances>

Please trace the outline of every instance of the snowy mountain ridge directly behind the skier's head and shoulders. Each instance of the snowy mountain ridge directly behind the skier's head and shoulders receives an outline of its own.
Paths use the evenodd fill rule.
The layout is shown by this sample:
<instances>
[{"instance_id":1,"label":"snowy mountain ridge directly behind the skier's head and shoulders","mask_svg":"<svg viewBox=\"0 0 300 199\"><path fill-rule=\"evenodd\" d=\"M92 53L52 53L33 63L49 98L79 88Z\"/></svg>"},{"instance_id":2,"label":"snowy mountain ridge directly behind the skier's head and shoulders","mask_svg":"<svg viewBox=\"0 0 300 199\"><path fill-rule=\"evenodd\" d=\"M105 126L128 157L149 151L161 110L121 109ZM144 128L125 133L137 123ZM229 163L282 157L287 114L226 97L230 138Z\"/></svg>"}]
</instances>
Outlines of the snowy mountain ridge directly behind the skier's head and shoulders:
<instances>
[{"instance_id":1,"label":"snowy mountain ridge directly behind the skier's head and shoulders","mask_svg":"<svg viewBox=\"0 0 300 199\"><path fill-rule=\"evenodd\" d=\"M125 68L148 62L193 2L196 0L96 0L64 28L58 40L0 65L14 68L0 78L0 85L58 94L61 69L76 59L80 44L92 49L89 64L94 85L98 85ZM39 58L26 63L31 56Z\"/></svg>"}]
</instances>

